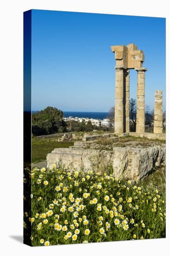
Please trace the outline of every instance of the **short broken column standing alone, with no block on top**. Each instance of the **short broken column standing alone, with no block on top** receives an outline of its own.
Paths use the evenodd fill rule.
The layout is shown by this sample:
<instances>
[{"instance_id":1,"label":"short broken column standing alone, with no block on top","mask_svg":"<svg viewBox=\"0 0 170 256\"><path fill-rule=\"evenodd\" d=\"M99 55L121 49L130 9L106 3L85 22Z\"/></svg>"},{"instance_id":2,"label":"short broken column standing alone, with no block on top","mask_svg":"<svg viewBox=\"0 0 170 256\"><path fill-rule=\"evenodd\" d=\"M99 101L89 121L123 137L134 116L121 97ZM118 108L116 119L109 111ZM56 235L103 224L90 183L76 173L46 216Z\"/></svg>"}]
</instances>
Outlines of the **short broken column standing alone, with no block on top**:
<instances>
[{"instance_id":1,"label":"short broken column standing alone, with no block on top","mask_svg":"<svg viewBox=\"0 0 170 256\"><path fill-rule=\"evenodd\" d=\"M162 90L155 91L155 108L154 108L154 133L163 133L163 99Z\"/></svg>"}]
</instances>

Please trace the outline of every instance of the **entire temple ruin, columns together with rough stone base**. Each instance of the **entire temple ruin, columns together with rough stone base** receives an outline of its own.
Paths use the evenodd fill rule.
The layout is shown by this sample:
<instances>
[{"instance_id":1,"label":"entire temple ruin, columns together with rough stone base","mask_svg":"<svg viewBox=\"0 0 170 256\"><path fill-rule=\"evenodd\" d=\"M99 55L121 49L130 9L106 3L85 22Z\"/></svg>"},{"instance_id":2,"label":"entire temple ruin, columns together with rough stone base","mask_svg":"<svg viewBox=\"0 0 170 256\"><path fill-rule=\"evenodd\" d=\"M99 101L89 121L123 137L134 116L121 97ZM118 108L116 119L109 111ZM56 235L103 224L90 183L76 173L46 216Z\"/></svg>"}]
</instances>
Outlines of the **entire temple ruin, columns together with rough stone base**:
<instances>
[{"instance_id":1,"label":"entire temple ruin, columns together with rough stone base","mask_svg":"<svg viewBox=\"0 0 170 256\"><path fill-rule=\"evenodd\" d=\"M53 163L65 165L66 168L80 170L92 169L105 171L113 168L117 178L133 179L138 182L155 167L165 164L165 134L163 134L162 91L155 93L154 133L145 133L145 72L144 53L134 44L111 46L115 53L115 132L102 135L84 135L82 141L74 142L70 148L55 148L46 157L47 167ZM130 69L137 71L137 126L136 132L130 132L129 98ZM146 137L162 140L140 144L137 141L124 141L118 145L117 140L124 136ZM101 148L98 140L110 140L110 145ZM96 141L96 142L95 142ZM141 139L139 139L141 141ZM120 144L120 143L119 143Z\"/></svg>"}]
</instances>

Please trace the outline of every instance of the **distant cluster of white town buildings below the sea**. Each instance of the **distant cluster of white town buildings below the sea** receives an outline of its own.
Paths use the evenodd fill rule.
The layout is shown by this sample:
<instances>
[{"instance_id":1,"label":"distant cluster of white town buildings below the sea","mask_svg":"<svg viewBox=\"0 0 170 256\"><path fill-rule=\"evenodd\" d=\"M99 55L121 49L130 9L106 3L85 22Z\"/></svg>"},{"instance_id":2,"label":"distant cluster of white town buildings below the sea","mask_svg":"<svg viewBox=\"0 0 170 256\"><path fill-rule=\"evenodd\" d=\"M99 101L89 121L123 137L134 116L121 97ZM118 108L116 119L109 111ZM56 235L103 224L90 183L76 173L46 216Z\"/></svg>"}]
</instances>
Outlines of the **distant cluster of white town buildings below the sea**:
<instances>
[{"instance_id":1,"label":"distant cluster of white town buildings below the sea","mask_svg":"<svg viewBox=\"0 0 170 256\"><path fill-rule=\"evenodd\" d=\"M87 124L89 121L91 121L92 125L96 125L96 126L105 126L105 127L111 127L113 124L111 123L111 121L107 118L104 118L103 120L101 119L93 119L93 118L88 118L88 117L64 117L63 118L65 121L78 121L79 123L81 122L85 122L85 124Z\"/></svg>"}]
</instances>

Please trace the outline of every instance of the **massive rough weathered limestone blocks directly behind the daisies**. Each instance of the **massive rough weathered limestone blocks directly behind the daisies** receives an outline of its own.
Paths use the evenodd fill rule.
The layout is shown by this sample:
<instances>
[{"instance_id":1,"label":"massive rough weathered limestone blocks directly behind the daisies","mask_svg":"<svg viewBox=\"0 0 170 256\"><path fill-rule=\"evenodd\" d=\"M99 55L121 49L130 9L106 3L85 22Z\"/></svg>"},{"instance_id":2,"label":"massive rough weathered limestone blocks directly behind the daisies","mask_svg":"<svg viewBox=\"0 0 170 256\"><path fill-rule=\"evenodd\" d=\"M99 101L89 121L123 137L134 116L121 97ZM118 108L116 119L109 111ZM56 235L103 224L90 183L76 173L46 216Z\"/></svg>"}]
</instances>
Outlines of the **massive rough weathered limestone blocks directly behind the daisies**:
<instances>
[{"instance_id":1,"label":"massive rough weathered limestone blocks directly behind the daisies","mask_svg":"<svg viewBox=\"0 0 170 256\"><path fill-rule=\"evenodd\" d=\"M62 162L66 168L105 171L112 166L117 178L133 179L138 182L149 174L155 166L165 163L165 144L142 147L113 147L111 151L75 148L55 148L46 157L47 167Z\"/></svg>"}]
</instances>

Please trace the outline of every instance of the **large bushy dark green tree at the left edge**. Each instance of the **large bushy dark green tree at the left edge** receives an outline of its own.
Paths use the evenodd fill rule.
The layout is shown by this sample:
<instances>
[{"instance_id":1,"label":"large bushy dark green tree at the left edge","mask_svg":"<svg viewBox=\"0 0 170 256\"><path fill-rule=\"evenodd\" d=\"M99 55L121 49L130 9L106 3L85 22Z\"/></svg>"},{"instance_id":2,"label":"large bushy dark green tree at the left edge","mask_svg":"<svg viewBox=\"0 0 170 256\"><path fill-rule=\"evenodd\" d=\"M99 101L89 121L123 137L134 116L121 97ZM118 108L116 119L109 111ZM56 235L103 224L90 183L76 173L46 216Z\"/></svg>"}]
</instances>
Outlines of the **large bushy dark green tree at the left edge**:
<instances>
[{"instance_id":1,"label":"large bushy dark green tree at the left edge","mask_svg":"<svg viewBox=\"0 0 170 256\"><path fill-rule=\"evenodd\" d=\"M57 108L47 107L32 115L33 135L47 135L66 131L63 112Z\"/></svg>"}]
</instances>

